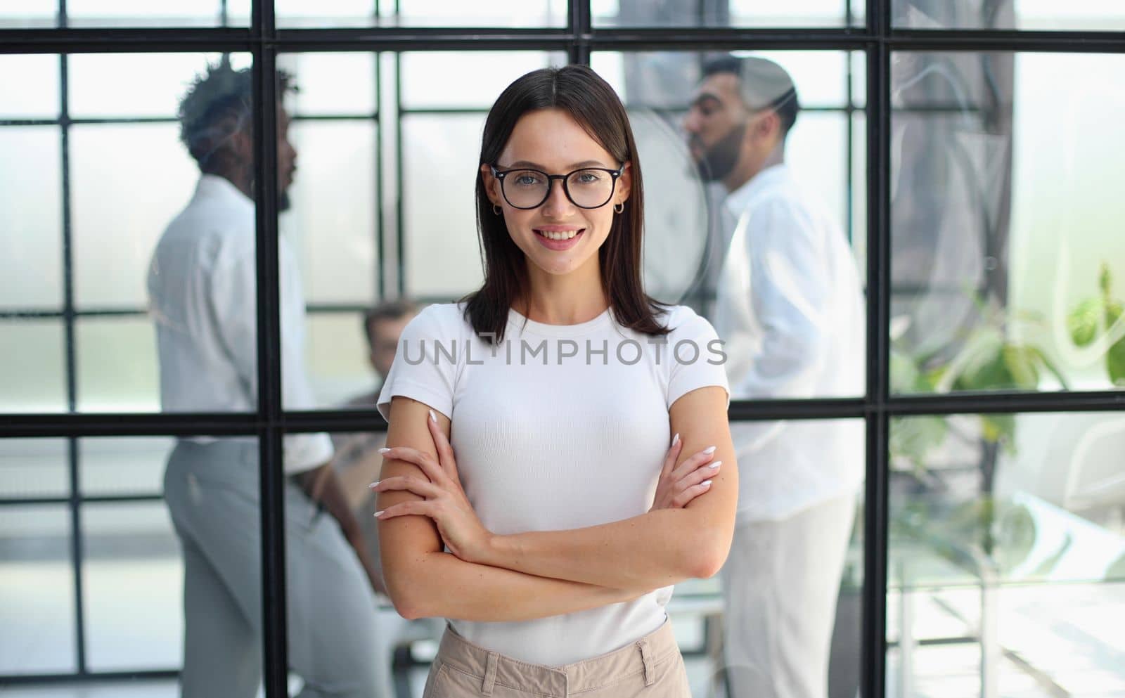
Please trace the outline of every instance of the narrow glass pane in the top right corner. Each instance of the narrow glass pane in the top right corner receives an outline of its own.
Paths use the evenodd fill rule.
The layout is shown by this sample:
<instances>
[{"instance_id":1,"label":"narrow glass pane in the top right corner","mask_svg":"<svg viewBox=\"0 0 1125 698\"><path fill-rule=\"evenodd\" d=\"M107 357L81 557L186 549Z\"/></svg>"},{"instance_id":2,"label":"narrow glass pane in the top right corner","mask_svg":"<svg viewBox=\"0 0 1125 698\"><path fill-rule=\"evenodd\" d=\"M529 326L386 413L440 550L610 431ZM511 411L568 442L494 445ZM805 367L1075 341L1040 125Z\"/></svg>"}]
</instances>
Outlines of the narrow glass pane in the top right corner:
<instances>
[{"instance_id":1,"label":"narrow glass pane in the top right corner","mask_svg":"<svg viewBox=\"0 0 1125 698\"><path fill-rule=\"evenodd\" d=\"M892 0L892 24L910 29L1125 29L1125 7L1106 0Z\"/></svg>"}]
</instances>

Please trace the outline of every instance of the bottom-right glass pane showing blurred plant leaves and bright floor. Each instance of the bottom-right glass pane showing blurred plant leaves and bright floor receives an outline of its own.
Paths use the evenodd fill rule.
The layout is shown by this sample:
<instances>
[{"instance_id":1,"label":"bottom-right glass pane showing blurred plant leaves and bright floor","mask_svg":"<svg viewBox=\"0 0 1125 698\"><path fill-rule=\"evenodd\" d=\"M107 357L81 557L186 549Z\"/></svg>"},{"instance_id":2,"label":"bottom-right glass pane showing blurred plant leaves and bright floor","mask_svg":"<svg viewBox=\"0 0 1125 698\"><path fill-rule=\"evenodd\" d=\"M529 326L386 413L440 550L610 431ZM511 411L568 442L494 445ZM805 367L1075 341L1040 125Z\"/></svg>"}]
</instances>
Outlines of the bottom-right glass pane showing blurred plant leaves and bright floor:
<instances>
[{"instance_id":1,"label":"bottom-right glass pane showing blurred plant leaves and bright floor","mask_svg":"<svg viewBox=\"0 0 1125 698\"><path fill-rule=\"evenodd\" d=\"M1114 413L892 423L888 695L1125 690L1123 444Z\"/></svg>"}]
</instances>

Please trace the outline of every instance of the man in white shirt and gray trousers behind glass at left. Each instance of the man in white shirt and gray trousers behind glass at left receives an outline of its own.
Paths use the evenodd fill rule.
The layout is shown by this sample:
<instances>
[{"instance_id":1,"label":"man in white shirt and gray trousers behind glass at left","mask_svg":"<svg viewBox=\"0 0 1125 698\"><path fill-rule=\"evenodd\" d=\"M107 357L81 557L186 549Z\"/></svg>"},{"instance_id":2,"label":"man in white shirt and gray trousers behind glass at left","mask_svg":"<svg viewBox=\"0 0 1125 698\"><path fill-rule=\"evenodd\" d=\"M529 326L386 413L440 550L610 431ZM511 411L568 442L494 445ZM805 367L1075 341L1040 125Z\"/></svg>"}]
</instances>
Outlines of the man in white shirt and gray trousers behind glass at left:
<instances>
[{"instance_id":1,"label":"man in white shirt and gray trousers behind glass at left","mask_svg":"<svg viewBox=\"0 0 1125 698\"><path fill-rule=\"evenodd\" d=\"M181 138L200 170L148 271L165 411L252 411L258 399L251 71L210 66L180 103ZM295 89L281 73L278 93ZM278 105L279 203L296 170ZM313 408L304 373L304 298L278 239L282 397ZM378 574L332 466L326 434L285 438L289 662L304 698L376 695ZM183 547L186 698L252 698L261 679L259 459L254 437L181 438L164 497ZM327 510L331 516L322 516Z\"/></svg>"}]
</instances>

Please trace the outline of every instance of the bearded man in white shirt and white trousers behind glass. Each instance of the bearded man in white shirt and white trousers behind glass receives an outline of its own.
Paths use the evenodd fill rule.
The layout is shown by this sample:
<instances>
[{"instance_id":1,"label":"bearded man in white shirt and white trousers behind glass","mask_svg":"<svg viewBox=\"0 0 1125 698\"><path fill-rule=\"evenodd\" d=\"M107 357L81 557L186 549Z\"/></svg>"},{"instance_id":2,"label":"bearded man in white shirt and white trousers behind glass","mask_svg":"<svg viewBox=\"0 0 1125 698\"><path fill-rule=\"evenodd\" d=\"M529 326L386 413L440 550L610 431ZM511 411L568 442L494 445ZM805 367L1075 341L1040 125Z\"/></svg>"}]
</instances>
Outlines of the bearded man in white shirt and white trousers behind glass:
<instances>
[{"instance_id":1,"label":"bearded man in white shirt and white trousers behind glass","mask_svg":"<svg viewBox=\"0 0 1125 698\"><path fill-rule=\"evenodd\" d=\"M789 74L758 57L709 63L684 123L732 232L714 310L731 397L863 393L863 297L839 227L798 185ZM856 420L731 423L738 522L723 566L731 698L824 698L839 580L863 481Z\"/></svg>"}]
</instances>

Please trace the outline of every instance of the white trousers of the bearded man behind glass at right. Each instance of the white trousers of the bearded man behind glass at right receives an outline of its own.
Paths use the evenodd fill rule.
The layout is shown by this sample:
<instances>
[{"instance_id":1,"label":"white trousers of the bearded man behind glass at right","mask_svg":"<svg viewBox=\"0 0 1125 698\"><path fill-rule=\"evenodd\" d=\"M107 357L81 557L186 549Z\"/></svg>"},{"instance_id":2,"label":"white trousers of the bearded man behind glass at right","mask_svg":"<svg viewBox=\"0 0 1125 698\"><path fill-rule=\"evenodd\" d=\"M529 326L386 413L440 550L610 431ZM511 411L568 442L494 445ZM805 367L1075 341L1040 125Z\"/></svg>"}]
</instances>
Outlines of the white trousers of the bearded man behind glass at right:
<instances>
[{"instance_id":1,"label":"white trousers of the bearded man behind glass at right","mask_svg":"<svg viewBox=\"0 0 1125 698\"><path fill-rule=\"evenodd\" d=\"M730 698L826 698L836 598L855 498L749 522L720 573Z\"/></svg>"}]
</instances>

